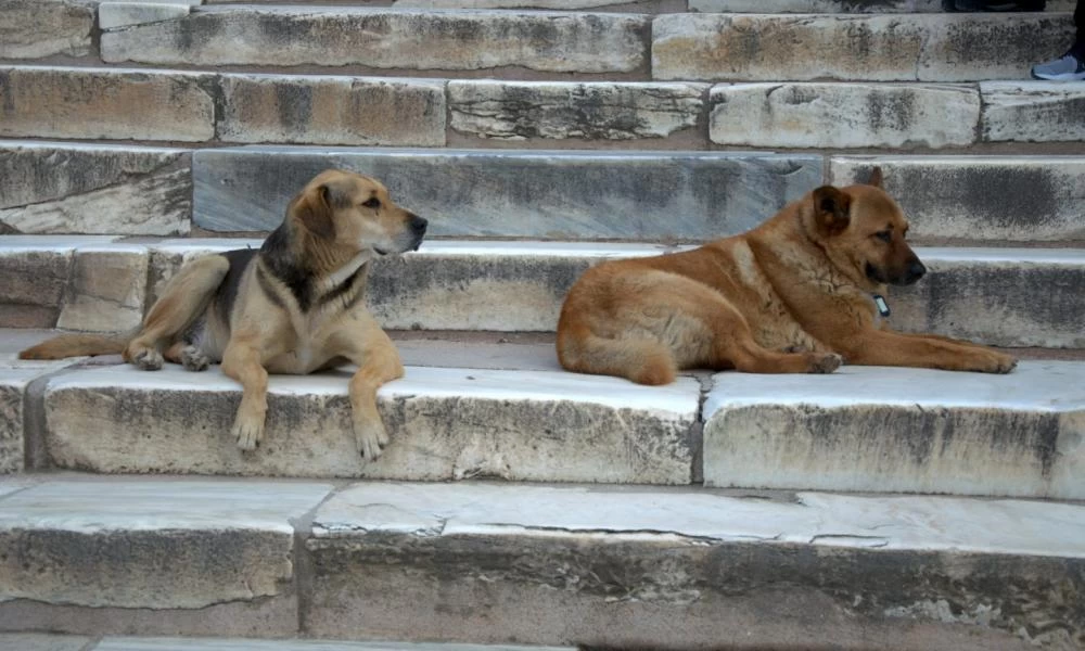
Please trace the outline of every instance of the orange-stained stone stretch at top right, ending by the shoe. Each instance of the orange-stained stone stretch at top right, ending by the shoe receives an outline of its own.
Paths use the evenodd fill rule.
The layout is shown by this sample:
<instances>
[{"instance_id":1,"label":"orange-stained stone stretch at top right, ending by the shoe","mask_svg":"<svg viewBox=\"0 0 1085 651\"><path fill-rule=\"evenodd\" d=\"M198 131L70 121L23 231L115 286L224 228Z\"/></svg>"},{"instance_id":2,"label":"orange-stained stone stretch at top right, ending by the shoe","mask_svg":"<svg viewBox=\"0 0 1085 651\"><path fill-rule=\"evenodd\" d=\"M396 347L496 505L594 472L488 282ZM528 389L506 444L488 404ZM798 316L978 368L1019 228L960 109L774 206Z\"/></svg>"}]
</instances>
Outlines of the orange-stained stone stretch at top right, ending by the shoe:
<instances>
[{"instance_id":1,"label":"orange-stained stone stretch at top right, ending by the shoe","mask_svg":"<svg viewBox=\"0 0 1085 651\"><path fill-rule=\"evenodd\" d=\"M1064 14L661 15L656 79L973 81L1026 75L1073 42Z\"/></svg>"}]
</instances>

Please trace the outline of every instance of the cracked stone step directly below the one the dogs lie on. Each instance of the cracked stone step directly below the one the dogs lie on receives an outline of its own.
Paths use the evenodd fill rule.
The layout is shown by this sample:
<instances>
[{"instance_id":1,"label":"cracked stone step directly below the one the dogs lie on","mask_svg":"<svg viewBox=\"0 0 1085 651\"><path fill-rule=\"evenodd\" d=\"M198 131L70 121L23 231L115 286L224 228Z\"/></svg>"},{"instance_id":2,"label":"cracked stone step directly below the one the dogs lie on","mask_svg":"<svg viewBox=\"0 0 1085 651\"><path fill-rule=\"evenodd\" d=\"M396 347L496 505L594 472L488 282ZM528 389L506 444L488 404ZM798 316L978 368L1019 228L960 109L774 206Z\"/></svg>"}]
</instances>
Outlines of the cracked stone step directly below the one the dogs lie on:
<instances>
[{"instance_id":1,"label":"cracked stone step directly below the one the dogs lie on","mask_svg":"<svg viewBox=\"0 0 1085 651\"><path fill-rule=\"evenodd\" d=\"M1085 641L1085 512L1069 503L50 475L0 492L9 631L766 650Z\"/></svg>"}]
</instances>

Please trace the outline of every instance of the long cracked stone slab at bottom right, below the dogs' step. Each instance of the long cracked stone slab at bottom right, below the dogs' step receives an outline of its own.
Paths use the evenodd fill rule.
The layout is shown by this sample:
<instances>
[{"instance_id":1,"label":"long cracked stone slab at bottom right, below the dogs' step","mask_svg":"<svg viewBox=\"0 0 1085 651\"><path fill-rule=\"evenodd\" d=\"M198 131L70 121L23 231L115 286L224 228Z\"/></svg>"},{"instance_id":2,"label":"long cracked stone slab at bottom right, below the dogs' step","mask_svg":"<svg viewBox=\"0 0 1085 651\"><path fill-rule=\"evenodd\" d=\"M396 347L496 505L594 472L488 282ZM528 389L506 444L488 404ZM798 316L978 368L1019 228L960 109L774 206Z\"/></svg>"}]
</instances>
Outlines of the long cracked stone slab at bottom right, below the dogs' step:
<instances>
[{"instance_id":1,"label":"long cracked stone slab at bottom right, below the dogs' step","mask_svg":"<svg viewBox=\"0 0 1085 651\"><path fill-rule=\"evenodd\" d=\"M741 630L765 649L1071 648L1085 607L1052 595L1083 589L1081 510L363 484L317 512L303 616L341 638L692 649Z\"/></svg>"}]
</instances>

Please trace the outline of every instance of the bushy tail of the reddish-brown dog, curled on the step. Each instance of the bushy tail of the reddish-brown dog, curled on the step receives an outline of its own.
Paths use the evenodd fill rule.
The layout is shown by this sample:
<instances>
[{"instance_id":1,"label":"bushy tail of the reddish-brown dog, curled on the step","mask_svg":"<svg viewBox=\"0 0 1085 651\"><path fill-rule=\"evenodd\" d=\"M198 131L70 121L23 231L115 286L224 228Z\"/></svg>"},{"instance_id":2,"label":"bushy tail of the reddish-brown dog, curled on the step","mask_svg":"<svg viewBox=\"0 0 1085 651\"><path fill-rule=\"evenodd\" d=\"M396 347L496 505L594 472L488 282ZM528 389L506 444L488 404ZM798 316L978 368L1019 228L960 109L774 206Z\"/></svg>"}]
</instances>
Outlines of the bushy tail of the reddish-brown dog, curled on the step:
<instances>
[{"instance_id":1,"label":"bushy tail of the reddish-brown dog, curled on the step","mask_svg":"<svg viewBox=\"0 0 1085 651\"><path fill-rule=\"evenodd\" d=\"M567 371L617 375L653 386L671 384L678 374L674 355L663 342L609 339L583 322L558 324L558 360Z\"/></svg>"}]
</instances>

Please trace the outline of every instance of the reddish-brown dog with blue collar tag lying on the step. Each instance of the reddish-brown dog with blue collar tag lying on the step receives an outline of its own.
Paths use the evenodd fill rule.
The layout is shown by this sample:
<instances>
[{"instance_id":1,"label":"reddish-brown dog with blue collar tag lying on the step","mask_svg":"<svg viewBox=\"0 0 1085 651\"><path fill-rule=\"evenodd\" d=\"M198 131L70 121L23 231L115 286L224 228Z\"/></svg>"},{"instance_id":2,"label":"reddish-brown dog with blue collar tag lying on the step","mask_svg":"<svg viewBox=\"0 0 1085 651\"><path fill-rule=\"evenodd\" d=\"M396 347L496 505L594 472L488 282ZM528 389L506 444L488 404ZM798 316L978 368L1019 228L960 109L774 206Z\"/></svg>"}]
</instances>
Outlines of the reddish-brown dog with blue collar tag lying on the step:
<instances>
[{"instance_id":1,"label":"reddish-brown dog with blue collar tag lying on the step","mask_svg":"<svg viewBox=\"0 0 1085 651\"><path fill-rule=\"evenodd\" d=\"M1017 361L943 336L893 332L885 285L927 269L881 190L824 186L758 228L685 253L589 269L558 321L558 358L580 373L666 384L679 369L828 373L842 361L1007 373Z\"/></svg>"}]
</instances>

